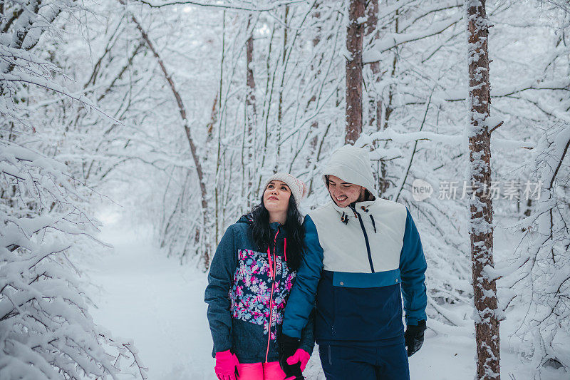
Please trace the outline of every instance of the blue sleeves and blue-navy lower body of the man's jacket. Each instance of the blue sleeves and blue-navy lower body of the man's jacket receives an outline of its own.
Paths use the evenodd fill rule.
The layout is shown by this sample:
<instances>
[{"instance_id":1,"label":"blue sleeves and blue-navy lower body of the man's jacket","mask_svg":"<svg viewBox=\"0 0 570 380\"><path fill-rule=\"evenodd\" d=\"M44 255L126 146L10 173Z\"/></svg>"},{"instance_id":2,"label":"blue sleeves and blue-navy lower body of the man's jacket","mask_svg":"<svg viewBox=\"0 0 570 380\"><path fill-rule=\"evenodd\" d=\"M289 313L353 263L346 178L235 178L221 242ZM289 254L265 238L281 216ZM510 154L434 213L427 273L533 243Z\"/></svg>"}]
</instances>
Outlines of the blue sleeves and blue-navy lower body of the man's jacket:
<instances>
[{"instance_id":1,"label":"blue sleeves and blue-navy lower body of the man's jacket","mask_svg":"<svg viewBox=\"0 0 570 380\"><path fill-rule=\"evenodd\" d=\"M284 334L300 336L316 298L315 337L319 344L382 346L403 342L403 309L406 323L418 324L426 319L427 301L427 265L418 230L409 210L406 212L400 267L374 273L323 271L325 253L316 225L307 215L307 252L285 309Z\"/></svg>"}]
</instances>

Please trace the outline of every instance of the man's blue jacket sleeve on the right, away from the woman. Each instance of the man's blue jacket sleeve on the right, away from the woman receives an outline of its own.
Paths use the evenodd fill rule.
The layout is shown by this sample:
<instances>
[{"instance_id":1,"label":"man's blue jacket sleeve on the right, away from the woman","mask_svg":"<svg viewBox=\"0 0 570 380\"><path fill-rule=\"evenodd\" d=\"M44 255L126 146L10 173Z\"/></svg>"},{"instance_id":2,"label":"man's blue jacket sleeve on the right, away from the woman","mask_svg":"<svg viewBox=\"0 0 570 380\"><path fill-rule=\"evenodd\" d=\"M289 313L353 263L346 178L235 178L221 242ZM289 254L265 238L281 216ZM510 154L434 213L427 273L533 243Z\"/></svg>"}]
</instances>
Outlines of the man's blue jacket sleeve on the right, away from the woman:
<instances>
[{"instance_id":1,"label":"man's blue jacket sleeve on the right, away from the woman","mask_svg":"<svg viewBox=\"0 0 570 380\"><path fill-rule=\"evenodd\" d=\"M425 269L427 269L427 263L420 234L415 227L410 210L406 207L404 244L400 252L400 276L402 277L405 323L408 326L417 326L419 321L427 319Z\"/></svg>"}]
</instances>

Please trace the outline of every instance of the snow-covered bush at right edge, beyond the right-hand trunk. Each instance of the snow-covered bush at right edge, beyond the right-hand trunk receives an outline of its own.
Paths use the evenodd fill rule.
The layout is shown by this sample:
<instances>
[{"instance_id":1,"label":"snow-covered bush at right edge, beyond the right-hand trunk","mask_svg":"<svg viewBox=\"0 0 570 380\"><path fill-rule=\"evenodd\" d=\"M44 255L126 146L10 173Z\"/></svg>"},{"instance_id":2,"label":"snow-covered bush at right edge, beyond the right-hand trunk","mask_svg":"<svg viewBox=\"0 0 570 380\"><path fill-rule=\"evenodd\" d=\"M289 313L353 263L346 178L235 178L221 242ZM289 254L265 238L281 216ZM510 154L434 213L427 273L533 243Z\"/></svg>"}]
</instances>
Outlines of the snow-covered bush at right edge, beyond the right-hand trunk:
<instances>
[{"instance_id":1,"label":"snow-covered bush at right edge, beyond the right-hand trunk","mask_svg":"<svg viewBox=\"0 0 570 380\"><path fill-rule=\"evenodd\" d=\"M570 120L569 120L570 121ZM544 130L527 163L541 183L528 217L514 223L524 231L512 259L499 263L507 317L515 323L508 342L543 366L570 369L570 123Z\"/></svg>"}]
</instances>

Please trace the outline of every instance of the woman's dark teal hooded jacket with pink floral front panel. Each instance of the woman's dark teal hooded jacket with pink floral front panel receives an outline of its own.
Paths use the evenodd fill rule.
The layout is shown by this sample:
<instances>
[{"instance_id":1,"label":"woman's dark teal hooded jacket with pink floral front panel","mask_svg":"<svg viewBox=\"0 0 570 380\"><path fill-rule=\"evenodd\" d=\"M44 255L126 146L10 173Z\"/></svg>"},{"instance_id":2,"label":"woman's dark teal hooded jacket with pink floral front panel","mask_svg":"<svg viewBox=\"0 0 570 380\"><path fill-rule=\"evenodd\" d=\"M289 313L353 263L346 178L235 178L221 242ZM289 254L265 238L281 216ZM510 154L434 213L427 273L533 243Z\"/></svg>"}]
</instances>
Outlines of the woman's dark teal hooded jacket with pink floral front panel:
<instances>
[{"instance_id":1,"label":"woman's dark teal hooded jacket with pink floral front panel","mask_svg":"<svg viewBox=\"0 0 570 380\"><path fill-rule=\"evenodd\" d=\"M227 228L212 259L204 294L212 356L231 349L242 364L279 360L277 329L296 276L287 267L283 227L278 222L269 225L275 238L268 253L257 250L251 225L251 215L244 215ZM311 354L312 319L306 319L300 337L299 348Z\"/></svg>"}]
</instances>

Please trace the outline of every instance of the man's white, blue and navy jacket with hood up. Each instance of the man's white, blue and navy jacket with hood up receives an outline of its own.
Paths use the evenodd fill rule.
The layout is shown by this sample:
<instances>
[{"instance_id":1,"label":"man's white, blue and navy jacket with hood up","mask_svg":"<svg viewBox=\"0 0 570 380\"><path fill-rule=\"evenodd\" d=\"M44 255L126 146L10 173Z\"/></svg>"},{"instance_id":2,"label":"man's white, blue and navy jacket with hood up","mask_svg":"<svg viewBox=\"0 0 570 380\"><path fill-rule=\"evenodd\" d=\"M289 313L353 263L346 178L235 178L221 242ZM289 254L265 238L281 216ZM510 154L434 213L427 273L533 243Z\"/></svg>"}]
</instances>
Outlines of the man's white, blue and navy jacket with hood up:
<instances>
[{"instance_id":1,"label":"man's white, blue and navy jacket with hood up","mask_svg":"<svg viewBox=\"0 0 570 380\"><path fill-rule=\"evenodd\" d=\"M331 201L305 217L307 252L285 309L283 333L298 338L316 301L318 344L401 344L403 309L408 325L426 319L427 265L410 212L378 199L363 149L336 150L325 175L361 185L375 200L348 207Z\"/></svg>"}]
</instances>

